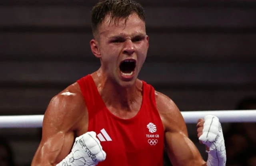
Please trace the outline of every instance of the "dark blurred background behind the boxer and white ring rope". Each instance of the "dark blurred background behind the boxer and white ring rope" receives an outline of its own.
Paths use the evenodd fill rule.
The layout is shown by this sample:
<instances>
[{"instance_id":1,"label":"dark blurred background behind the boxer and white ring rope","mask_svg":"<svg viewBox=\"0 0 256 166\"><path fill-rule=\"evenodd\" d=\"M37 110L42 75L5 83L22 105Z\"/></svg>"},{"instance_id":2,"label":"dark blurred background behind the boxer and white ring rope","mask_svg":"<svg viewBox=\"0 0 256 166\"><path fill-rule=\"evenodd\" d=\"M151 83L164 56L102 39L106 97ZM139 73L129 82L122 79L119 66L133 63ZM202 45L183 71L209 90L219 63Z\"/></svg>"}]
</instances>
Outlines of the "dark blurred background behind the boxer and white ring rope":
<instances>
[{"instance_id":1,"label":"dark blurred background behind the boxer and white ring rope","mask_svg":"<svg viewBox=\"0 0 256 166\"><path fill-rule=\"evenodd\" d=\"M89 47L90 10L96 2L0 1L0 115L44 114L54 95L98 69ZM254 106L238 108L256 96L255 0L138 2L146 10L150 37L140 79L168 95L181 111L256 109L255 100ZM245 136L246 125L254 135ZM248 161L256 166L254 123L223 124L223 129L231 155L227 166ZM188 131L207 160L196 124L188 124ZM0 137L0 160L8 160L12 150L16 166L30 165L39 128L0 128ZM240 153L252 157L242 159Z\"/></svg>"}]
</instances>

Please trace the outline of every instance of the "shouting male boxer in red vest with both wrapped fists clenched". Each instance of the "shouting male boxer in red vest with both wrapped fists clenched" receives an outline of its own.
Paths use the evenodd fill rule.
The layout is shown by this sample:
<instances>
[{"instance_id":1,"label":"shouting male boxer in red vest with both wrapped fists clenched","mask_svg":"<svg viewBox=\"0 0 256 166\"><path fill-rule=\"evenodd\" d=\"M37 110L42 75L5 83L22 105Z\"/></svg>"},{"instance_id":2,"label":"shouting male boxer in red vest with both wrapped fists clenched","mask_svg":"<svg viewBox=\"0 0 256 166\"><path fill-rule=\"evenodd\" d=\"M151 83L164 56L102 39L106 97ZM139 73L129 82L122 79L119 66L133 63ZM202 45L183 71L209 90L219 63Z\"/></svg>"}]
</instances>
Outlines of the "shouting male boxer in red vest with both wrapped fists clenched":
<instances>
[{"instance_id":1,"label":"shouting male boxer in red vest with both wrapped fists clenched","mask_svg":"<svg viewBox=\"0 0 256 166\"><path fill-rule=\"evenodd\" d=\"M142 6L99 2L92 32L101 67L50 101L32 166L162 166L164 146L174 166L206 165L173 101L137 79L149 41ZM208 147L207 165L224 166L218 118L200 119L198 136Z\"/></svg>"}]
</instances>

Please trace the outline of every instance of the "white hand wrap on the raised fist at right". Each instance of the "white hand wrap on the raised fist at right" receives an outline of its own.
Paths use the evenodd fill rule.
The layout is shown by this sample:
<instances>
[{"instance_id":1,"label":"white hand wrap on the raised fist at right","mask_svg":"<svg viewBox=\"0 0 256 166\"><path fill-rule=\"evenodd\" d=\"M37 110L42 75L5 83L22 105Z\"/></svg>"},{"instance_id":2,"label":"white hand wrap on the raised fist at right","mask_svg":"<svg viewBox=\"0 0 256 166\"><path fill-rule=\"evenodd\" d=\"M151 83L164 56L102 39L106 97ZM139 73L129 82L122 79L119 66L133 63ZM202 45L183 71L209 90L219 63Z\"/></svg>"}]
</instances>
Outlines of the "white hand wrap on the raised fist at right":
<instances>
[{"instance_id":1,"label":"white hand wrap on the raised fist at right","mask_svg":"<svg viewBox=\"0 0 256 166\"><path fill-rule=\"evenodd\" d=\"M225 166L226 148L219 119L212 115L204 117L203 134L199 137L209 147L207 166Z\"/></svg>"}]
</instances>

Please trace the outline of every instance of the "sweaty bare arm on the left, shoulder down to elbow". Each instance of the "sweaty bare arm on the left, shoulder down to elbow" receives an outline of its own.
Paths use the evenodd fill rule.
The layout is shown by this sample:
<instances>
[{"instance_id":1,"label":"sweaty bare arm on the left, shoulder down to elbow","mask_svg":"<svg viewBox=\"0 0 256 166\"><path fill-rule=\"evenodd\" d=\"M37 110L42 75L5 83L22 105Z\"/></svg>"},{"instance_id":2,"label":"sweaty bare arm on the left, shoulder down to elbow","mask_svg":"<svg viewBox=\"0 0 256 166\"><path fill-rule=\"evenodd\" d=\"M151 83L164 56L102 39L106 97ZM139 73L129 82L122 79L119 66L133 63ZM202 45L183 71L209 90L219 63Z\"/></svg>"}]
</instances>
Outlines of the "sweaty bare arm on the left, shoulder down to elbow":
<instances>
[{"instance_id":1,"label":"sweaty bare arm on the left, shoulder down to elbow","mask_svg":"<svg viewBox=\"0 0 256 166\"><path fill-rule=\"evenodd\" d=\"M65 90L50 101L44 115L42 140L32 166L55 166L70 153L76 127L83 118L80 110L85 107L76 91Z\"/></svg>"}]
</instances>

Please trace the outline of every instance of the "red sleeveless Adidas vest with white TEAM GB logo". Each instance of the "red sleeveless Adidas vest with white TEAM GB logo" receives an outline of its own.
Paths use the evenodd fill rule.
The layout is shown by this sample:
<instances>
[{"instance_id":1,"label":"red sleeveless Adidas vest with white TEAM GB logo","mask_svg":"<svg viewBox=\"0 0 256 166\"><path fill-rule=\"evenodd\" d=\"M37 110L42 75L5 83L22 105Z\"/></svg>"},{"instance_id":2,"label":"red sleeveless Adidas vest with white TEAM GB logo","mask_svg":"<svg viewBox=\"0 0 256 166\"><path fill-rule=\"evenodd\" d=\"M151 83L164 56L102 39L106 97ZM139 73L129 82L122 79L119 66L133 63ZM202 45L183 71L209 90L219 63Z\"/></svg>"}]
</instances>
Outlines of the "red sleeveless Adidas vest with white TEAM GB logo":
<instances>
[{"instance_id":1,"label":"red sleeveless Adidas vest with white TEAM GB logo","mask_svg":"<svg viewBox=\"0 0 256 166\"><path fill-rule=\"evenodd\" d=\"M106 160L98 166L162 166L164 128L156 109L154 88L143 82L142 105L131 119L120 119L104 104L91 75L77 81Z\"/></svg>"}]
</instances>

